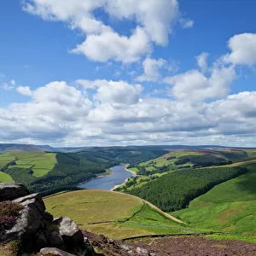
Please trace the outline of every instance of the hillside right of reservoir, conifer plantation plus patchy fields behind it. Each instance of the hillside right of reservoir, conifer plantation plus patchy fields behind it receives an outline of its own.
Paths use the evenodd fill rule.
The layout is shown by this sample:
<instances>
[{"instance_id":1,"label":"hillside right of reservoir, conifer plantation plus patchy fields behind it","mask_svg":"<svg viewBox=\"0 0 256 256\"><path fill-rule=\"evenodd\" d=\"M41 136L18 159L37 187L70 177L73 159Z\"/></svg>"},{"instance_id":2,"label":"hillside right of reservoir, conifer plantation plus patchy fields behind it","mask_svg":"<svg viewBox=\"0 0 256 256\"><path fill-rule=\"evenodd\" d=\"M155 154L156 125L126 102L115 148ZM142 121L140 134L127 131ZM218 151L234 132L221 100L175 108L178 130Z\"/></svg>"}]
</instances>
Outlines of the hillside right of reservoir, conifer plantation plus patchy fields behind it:
<instances>
[{"instance_id":1,"label":"hillside right of reservoir, conifer plantation plus patchy fields behind it","mask_svg":"<svg viewBox=\"0 0 256 256\"><path fill-rule=\"evenodd\" d=\"M115 190L140 196L164 211L177 211L218 183L247 172L240 166L255 160L254 149L176 150L129 166L137 177Z\"/></svg>"}]
</instances>

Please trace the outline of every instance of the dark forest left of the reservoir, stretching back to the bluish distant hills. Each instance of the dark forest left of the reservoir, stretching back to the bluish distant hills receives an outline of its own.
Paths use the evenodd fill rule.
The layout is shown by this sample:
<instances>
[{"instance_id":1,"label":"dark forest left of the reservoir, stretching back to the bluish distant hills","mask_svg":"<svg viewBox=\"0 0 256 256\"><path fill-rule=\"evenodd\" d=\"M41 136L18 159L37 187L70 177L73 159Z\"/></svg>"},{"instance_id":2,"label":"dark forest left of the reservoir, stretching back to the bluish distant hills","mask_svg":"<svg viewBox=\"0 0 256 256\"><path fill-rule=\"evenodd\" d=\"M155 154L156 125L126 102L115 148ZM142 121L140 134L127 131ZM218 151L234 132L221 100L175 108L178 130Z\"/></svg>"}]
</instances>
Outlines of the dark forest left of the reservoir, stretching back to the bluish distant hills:
<instances>
[{"instance_id":1,"label":"dark forest left of the reservoir, stretching back to the bluish distant hills","mask_svg":"<svg viewBox=\"0 0 256 256\"><path fill-rule=\"evenodd\" d=\"M137 164L165 153L160 149L93 148L77 153L56 153L55 166L44 177L35 177L32 168L15 166L15 161L1 171L8 173L16 183L25 184L32 193L50 195L77 189L79 183L106 173L110 167L121 163Z\"/></svg>"}]
</instances>

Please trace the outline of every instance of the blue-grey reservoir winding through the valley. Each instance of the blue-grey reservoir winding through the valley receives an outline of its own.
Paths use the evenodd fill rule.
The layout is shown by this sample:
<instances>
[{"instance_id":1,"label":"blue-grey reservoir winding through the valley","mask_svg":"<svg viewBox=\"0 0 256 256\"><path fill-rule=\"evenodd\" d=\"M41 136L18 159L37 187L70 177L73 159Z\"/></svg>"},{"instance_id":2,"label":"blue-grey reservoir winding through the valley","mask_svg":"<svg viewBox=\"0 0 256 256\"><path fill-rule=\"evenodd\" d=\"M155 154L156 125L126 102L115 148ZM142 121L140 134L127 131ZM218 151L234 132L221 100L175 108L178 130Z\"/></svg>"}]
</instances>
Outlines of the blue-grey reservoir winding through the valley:
<instances>
[{"instance_id":1,"label":"blue-grey reservoir winding through the valley","mask_svg":"<svg viewBox=\"0 0 256 256\"><path fill-rule=\"evenodd\" d=\"M125 166L114 166L110 168L111 174L104 177L96 177L87 183L79 184L82 189L103 189L111 190L114 186L122 184L125 179L132 177L133 174L125 170Z\"/></svg>"}]
</instances>

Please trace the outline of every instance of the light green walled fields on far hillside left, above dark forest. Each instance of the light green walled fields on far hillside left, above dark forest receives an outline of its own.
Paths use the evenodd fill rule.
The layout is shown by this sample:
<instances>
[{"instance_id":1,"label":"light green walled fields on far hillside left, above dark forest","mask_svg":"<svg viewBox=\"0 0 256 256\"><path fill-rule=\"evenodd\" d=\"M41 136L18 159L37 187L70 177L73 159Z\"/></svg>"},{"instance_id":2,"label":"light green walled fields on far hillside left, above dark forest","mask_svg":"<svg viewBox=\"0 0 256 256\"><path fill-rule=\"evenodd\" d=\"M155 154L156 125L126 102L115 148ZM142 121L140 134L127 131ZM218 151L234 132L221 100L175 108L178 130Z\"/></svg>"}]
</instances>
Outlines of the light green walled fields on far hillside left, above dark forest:
<instances>
[{"instance_id":1,"label":"light green walled fields on far hillside left, above dark forest","mask_svg":"<svg viewBox=\"0 0 256 256\"><path fill-rule=\"evenodd\" d=\"M56 154L53 153L24 152L13 155L16 158L16 166L9 166L9 168L31 168L34 177L44 177L56 163Z\"/></svg>"}]
</instances>

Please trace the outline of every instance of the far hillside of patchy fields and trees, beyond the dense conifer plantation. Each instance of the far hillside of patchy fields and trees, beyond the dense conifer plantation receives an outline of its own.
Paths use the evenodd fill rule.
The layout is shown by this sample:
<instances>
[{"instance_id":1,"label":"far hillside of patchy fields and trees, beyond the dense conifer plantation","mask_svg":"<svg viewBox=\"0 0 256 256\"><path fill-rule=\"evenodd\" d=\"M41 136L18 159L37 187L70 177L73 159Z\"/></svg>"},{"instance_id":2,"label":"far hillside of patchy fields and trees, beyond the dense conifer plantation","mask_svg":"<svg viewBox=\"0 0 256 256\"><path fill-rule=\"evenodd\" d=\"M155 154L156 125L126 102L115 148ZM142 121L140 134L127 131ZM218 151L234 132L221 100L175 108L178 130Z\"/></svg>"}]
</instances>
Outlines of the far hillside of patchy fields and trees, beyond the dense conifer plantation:
<instances>
[{"instance_id":1,"label":"far hillside of patchy fields and trees, beyond the dense conifer plantation","mask_svg":"<svg viewBox=\"0 0 256 256\"><path fill-rule=\"evenodd\" d=\"M172 150L154 160L148 160L138 165L129 166L129 170L137 172L138 177L131 177L129 181L116 189L128 192L141 189L147 183L157 180L168 172L182 171L183 169L199 169L208 166L241 166L242 162L256 162L255 148L201 148Z\"/></svg>"}]
</instances>

